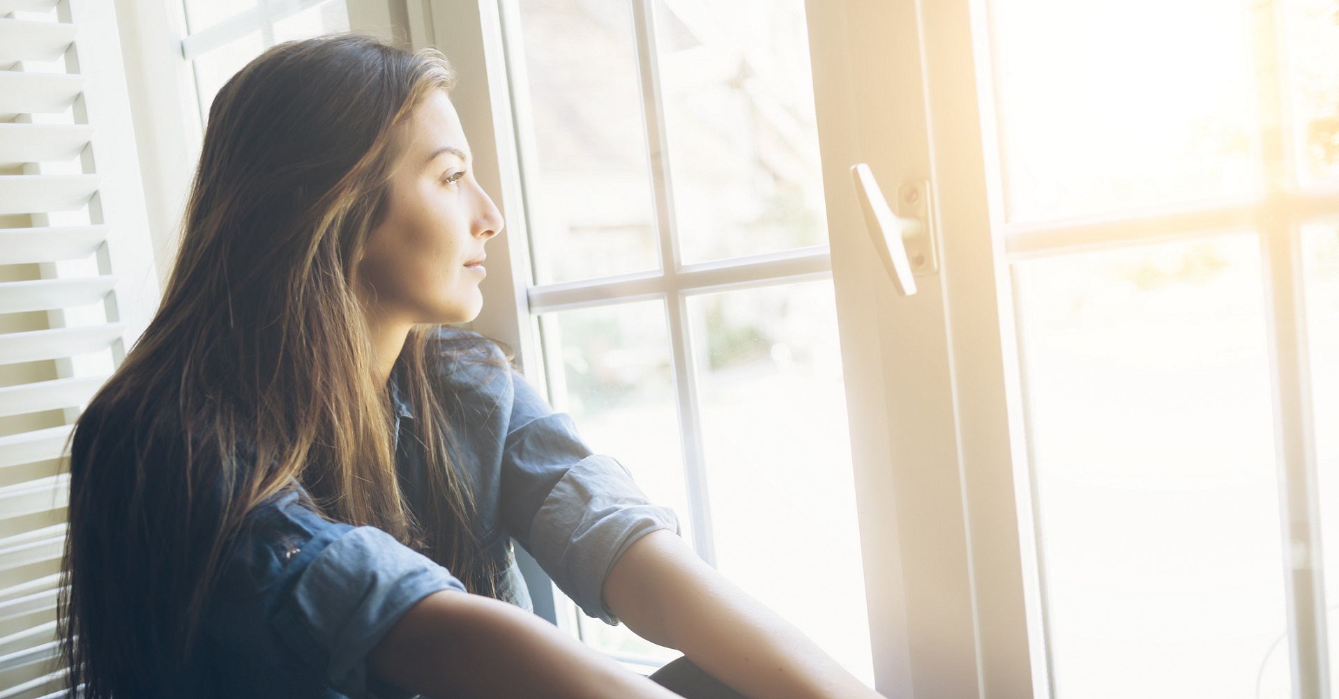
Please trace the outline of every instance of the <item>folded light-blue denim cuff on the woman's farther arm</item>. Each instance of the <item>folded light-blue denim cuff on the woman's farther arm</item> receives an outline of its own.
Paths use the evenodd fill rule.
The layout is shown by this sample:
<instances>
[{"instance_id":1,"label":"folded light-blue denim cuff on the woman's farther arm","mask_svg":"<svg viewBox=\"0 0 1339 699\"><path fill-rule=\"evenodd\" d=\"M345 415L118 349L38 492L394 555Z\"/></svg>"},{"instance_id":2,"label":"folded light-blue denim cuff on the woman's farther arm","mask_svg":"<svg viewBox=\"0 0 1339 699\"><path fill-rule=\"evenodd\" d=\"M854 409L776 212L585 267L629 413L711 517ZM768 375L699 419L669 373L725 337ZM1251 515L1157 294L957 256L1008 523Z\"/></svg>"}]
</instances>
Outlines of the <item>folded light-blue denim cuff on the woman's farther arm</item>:
<instances>
[{"instance_id":1,"label":"folded light-blue denim cuff on the woman's farther arm","mask_svg":"<svg viewBox=\"0 0 1339 699\"><path fill-rule=\"evenodd\" d=\"M679 532L670 508L652 505L612 457L581 459L553 486L530 525L530 553L586 615L619 620L604 604L604 578L639 538Z\"/></svg>"}]
</instances>

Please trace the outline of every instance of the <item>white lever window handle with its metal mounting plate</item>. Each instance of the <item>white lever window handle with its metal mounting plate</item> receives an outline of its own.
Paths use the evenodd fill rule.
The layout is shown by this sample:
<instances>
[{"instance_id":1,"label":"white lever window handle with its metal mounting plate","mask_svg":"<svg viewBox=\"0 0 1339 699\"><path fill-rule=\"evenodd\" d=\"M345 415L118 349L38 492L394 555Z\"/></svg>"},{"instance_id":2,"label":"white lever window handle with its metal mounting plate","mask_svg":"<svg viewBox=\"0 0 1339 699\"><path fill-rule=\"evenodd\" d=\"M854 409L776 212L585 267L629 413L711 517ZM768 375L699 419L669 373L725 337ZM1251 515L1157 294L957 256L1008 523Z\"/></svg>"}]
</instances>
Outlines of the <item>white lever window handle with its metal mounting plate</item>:
<instances>
[{"instance_id":1,"label":"white lever window handle with its metal mounting plate","mask_svg":"<svg viewBox=\"0 0 1339 699\"><path fill-rule=\"evenodd\" d=\"M884 269L902 296L916 293L916 277L939 272L935 254L935 226L931 221L929 182L913 182L898 187L897 209L888 206L884 193L874 181L874 173L865 163L853 165L850 177L856 181L860 206L865 212L865 226L874 241Z\"/></svg>"}]
</instances>

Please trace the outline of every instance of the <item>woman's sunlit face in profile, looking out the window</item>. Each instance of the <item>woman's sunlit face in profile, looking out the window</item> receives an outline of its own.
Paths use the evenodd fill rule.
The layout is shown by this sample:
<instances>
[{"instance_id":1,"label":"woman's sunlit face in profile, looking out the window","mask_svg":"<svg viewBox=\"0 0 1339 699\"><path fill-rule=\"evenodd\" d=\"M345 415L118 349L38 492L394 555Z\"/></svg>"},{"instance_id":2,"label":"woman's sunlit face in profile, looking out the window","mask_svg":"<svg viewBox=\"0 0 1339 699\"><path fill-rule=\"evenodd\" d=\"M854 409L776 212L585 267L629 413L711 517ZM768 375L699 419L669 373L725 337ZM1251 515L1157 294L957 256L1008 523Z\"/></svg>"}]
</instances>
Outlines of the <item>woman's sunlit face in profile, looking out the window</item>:
<instances>
[{"instance_id":1,"label":"woman's sunlit face in profile, looking out the window","mask_svg":"<svg viewBox=\"0 0 1339 699\"><path fill-rule=\"evenodd\" d=\"M402 129L386 220L358 262L358 285L382 323L473 320L483 305L483 244L502 216L474 179L446 92L434 91Z\"/></svg>"}]
</instances>

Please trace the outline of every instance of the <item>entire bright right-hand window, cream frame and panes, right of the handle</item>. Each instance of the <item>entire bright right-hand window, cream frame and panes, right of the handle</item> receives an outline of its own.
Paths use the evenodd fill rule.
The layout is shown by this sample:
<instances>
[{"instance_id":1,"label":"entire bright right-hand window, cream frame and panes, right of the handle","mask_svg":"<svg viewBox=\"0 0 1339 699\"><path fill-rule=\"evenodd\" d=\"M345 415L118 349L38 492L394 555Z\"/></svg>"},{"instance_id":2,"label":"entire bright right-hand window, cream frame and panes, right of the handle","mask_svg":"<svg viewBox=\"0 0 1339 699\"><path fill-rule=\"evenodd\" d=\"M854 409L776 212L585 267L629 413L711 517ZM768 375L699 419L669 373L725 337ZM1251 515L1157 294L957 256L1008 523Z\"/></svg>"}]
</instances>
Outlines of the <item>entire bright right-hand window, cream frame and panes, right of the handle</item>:
<instances>
[{"instance_id":1,"label":"entire bright right-hand window, cream frame and panes, right of the handle","mask_svg":"<svg viewBox=\"0 0 1339 699\"><path fill-rule=\"evenodd\" d=\"M901 510L880 686L1324 696L1335 5L841 5L825 165L932 177L944 266L897 299L833 236L880 299L840 316Z\"/></svg>"}]
</instances>

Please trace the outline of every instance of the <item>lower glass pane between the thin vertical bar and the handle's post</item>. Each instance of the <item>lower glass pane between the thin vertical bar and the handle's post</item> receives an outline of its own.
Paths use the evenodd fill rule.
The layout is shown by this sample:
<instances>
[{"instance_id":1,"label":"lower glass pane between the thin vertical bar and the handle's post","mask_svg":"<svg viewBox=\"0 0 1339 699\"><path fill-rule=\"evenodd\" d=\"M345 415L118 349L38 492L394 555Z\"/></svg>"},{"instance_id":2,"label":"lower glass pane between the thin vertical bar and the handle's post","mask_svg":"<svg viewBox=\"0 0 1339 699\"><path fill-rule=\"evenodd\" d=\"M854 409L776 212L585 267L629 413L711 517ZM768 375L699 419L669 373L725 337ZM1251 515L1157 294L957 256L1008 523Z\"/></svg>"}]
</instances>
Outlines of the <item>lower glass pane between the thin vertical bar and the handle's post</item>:
<instances>
[{"instance_id":1,"label":"lower glass pane between the thin vertical bar and the handle's post","mask_svg":"<svg viewBox=\"0 0 1339 699\"><path fill-rule=\"evenodd\" d=\"M833 285L696 296L688 315L716 564L872 683Z\"/></svg>"}]
</instances>

